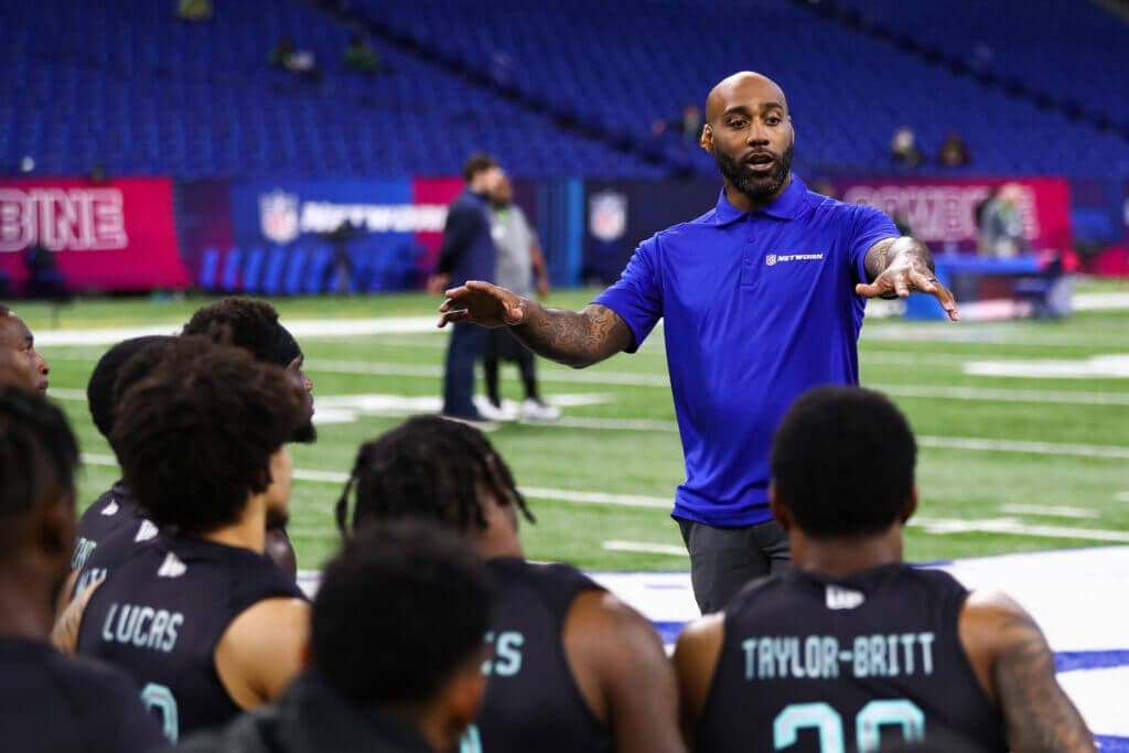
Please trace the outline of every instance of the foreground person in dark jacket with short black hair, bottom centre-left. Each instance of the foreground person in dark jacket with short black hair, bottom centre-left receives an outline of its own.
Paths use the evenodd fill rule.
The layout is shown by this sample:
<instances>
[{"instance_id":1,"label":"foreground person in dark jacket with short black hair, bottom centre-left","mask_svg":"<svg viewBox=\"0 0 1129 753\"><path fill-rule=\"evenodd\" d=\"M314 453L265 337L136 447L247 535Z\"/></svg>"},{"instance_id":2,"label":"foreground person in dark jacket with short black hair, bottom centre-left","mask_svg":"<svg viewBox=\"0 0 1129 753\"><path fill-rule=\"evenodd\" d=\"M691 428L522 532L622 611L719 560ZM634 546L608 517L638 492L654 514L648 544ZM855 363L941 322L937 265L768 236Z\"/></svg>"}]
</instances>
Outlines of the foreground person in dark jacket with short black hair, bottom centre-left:
<instances>
[{"instance_id":1,"label":"foreground person in dark jacket with short black hair, bottom centre-left","mask_svg":"<svg viewBox=\"0 0 1129 753\"><path fill-rule=\"evenodd\" d=\"M278 703L177 753L452 751L485 689L485 566L456 534L401 522L348 541L314 602L309 669Z\"/></svg>"}]
</instances>

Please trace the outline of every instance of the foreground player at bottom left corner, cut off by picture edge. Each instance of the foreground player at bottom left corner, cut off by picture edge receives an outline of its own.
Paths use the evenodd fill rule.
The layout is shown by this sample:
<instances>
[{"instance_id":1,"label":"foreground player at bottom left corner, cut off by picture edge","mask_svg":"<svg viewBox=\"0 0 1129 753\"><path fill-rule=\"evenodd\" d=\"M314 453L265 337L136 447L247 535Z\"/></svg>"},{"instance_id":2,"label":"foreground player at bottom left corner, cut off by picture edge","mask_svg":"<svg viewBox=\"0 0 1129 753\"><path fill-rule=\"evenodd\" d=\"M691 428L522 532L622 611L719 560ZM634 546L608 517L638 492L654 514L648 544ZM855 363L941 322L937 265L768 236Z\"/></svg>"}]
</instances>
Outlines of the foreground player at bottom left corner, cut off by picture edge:
<instances>
[{"instance_id":1,"label":"foreground player at bottom left corner, cut off by picture edge","mask_svg":"<svg viewBox=\"0 0 1129 753\"><path fill-rule=\"evenodd\" d=\"M42 396L0 387L0 735L20 753L140 753L161 742L139 689L47 642L69 571L78 446Z\"/></svg>"}]
</instances>

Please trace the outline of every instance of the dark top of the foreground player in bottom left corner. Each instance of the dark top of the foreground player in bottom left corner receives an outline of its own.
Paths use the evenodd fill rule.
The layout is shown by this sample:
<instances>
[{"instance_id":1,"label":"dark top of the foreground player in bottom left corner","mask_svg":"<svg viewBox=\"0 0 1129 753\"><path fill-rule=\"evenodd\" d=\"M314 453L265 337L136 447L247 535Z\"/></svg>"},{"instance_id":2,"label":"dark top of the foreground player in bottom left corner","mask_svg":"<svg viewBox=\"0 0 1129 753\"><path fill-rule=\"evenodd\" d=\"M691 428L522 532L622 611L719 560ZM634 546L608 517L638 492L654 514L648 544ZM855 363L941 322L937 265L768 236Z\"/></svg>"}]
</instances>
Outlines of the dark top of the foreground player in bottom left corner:
<instances>
[{"instance_id":1,"label":"dark top of the foreground player in bottom left corner","mask_svg":"<svg viewBox=\"0 0 1129 753\"><path fill-rule=\"evenodd\" d=\"M19 753L143 753L165 744L121 671L19 638L0 638L0 747Z\"/></svg>"}]
</instances>

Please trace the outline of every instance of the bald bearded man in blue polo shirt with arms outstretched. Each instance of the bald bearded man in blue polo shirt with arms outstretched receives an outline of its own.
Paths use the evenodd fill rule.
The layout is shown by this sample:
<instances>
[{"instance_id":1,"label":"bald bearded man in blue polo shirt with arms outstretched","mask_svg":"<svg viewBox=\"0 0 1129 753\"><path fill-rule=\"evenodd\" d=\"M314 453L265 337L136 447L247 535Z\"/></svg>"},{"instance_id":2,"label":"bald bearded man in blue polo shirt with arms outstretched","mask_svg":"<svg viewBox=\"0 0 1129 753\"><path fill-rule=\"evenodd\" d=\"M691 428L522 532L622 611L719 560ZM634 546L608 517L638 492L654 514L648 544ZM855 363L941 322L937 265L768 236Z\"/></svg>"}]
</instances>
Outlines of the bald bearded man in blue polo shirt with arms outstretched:
<instances>
[{"instance_id":1,"label":"bald bearded man in blue polo shirt with arms outstretched","mask_svg":"<svg viewBox=\"0 0 1129 753\"><path fill-rule=\"evenodd\" d=\"M788 566L768 508L772 434L806 389L858 384L866 299L920 290L954 321L956 305L924 244L791 174L791 117L772 80L730 76L706 116L701 146L725 178L711 211L640 244L581 312L469 281L447 290L439 325L509 325L533 351L579 368L633 352L664 319L686 463L673 515L698 605L714 612L751 578Z\"/></svg>"}]
</instances>

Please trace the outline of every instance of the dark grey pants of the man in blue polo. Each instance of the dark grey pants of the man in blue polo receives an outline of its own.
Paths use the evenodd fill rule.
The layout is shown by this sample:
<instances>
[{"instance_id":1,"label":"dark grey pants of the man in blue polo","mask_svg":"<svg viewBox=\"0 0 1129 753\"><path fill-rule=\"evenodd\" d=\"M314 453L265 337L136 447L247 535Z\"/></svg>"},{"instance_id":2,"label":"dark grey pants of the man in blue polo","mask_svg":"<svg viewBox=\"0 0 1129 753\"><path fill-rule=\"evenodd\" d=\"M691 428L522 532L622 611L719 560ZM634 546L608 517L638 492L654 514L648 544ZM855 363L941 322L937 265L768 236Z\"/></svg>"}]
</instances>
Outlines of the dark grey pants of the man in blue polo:
<instances>
[{"instance_id":1,"label":"dark grey pants of the man in blue polo","mask_svg":"<svg viewBox=\"0 0 1129 753\"><path fill-rule=\"evenodd\" d=\"M750 580L791 567L788 535L776 520L715 528L679 518L690 552L690 581L702 614L719 612Z\"/></svg>"}]
</instances>

